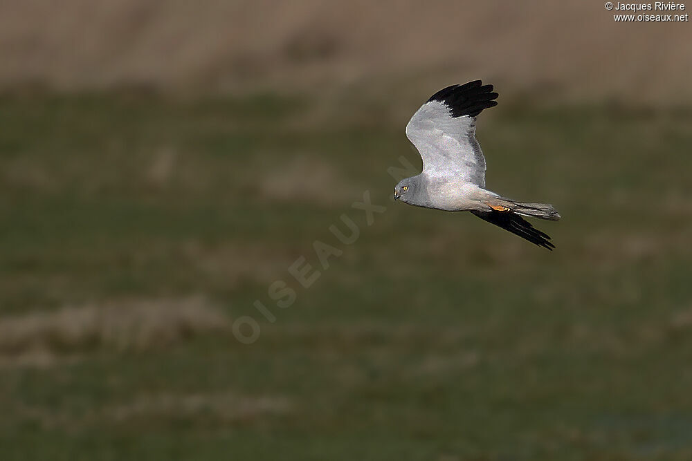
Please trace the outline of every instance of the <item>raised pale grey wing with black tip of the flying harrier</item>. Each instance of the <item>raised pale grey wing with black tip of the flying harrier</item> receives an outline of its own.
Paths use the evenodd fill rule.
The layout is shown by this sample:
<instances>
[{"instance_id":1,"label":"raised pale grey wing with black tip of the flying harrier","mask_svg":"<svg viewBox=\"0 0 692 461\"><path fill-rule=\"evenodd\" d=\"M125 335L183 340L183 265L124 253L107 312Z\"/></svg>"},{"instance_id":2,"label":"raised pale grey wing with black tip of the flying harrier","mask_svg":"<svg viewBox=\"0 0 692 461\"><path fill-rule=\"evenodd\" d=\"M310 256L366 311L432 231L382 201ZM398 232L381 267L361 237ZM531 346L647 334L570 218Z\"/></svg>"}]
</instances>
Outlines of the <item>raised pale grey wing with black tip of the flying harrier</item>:
<instances>
[{"instance_id":1,"label":"raised pale grey wing with black tip of the flying harrier","mask_svg":"<svg viewBox=\"0 0 692 461\"><path fill-rule=\"evenodd\" d=\"M496 106L480 80L438 91L411 117L406 136L423 158L423 173L485 187L485 158L475 139L476 116Z\"/></svg>"}]
</instances>

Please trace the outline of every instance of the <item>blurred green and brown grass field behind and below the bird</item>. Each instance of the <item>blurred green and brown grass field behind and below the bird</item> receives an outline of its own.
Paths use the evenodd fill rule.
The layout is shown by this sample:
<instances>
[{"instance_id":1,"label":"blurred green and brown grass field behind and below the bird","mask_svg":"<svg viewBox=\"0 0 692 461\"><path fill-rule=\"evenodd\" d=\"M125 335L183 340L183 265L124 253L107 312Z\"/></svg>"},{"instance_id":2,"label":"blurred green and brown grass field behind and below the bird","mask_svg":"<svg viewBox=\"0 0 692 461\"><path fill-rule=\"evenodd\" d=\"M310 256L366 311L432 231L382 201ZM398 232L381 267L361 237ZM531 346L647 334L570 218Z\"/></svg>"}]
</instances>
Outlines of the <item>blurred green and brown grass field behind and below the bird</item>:
<instances>
[{"instance_id":1,"label":"blurred green and brown grass field behind and below the bird","mask_svg":"<svg viewBox=\"0 0 692 461\"><path fill-rule=\"evenodd\" d=\"M690 459L692 111L484 113L547 252L390 201L406 102L0 97L3 460Z\"/></svg>"}]
</instances>

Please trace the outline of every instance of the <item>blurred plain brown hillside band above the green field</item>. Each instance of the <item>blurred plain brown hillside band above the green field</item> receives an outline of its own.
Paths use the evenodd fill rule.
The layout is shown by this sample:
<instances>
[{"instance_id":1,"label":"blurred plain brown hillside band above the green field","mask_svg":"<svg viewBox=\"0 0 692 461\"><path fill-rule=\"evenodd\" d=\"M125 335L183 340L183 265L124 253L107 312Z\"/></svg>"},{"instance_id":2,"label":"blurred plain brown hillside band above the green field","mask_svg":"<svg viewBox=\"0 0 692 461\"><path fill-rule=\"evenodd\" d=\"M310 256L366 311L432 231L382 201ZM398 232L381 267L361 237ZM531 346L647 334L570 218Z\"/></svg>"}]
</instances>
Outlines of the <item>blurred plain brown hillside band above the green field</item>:
<instances>
[{"instance_id":1,"label":"blurred plain brown hillside band above the green field","mask_svg":"<svg viewBox=\"0 0 692 461\"><path fill-rule=\"evenodd\" d=\"M599 1L0 2L0 88L242 93L482 77L552 100L692 100L692 29Z\"/></svg>"}]
</instances>

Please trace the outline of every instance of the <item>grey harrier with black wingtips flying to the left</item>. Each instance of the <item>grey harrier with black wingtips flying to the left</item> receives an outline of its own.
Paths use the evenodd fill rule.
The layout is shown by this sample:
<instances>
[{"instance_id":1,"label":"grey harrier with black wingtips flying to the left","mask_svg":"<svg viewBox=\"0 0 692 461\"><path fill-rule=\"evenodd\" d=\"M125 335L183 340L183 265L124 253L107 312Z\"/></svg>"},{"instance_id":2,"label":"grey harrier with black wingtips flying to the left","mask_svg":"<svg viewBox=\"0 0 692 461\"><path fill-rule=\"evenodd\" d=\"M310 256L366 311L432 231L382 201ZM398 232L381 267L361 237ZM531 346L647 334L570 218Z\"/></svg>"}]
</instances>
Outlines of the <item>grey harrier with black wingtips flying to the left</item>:
<instances>
[{"instance_id":1,"label":"grey harrier with black wingtips flying to the left","mask_svg":"<svg viewBox=\"0 0 692 461\"><path fill-rule=\"evenodd\" d=\"M423 171L401 180L394 198L417 207L471 211L540 247L552 250L550 237L522 216L556 221L547 203L519 202L485 188L485 157L475 138L476 117L497 106L492 85L480 80L452 85L430 97L411 117L406 136L423 158Z\"/></svg>"}]
</instances>

